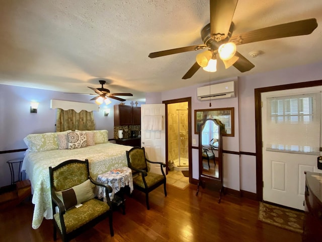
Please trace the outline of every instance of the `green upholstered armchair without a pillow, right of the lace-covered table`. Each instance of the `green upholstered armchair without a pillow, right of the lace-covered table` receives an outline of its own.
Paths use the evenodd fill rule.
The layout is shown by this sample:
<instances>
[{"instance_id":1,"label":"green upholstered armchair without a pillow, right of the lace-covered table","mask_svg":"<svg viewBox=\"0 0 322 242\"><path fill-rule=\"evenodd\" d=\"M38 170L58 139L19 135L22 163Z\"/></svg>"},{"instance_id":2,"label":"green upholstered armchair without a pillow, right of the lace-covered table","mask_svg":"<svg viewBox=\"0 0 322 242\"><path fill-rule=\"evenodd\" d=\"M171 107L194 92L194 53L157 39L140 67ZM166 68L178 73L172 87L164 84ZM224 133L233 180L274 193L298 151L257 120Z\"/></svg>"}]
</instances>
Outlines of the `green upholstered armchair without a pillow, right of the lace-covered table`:
<instances>
[{"instance_id":1,"label":"green upholstered armchair without a pillow, right of the lace-covered table","mask_svg":"<svg viewBox=\"0 0 322 242\"><path fill-rule=\"evenodd\" d=\"M126 151L127 164L133 172L133 186L137 190L145 193L146 208L149 210L148 193L160 185L164 185L165 196L167 197L166 175L162 167L166 167L163 162L150 161L145 157L144 147L133 147ZM160 164L162 174L156 174L148 171L147 162L151 164ZM139 173L139 175L135 175Z\"/></svg>"}]
</instances>

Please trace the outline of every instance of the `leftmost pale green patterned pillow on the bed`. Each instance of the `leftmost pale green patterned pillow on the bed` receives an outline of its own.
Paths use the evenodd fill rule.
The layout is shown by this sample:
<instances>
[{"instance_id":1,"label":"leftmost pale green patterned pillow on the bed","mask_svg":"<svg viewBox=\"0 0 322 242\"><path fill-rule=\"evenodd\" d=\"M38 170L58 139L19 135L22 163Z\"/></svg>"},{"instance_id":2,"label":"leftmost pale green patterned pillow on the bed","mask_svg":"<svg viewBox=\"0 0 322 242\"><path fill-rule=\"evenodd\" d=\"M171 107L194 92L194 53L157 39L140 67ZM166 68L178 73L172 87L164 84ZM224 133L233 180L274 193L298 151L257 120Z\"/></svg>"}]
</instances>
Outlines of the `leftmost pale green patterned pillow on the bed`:
<instances>
[{"instance_id":1,"label":"leftmost pale green patterned pillow on the bed","mask_svg":"<svg viewBox=\"0 0 322 242\"><path fill-rule=\"evenodd\" d=\"M30 134L24 138L29 152L57 150L58 142L56 133Z\"/></svg>"}]
</instances>

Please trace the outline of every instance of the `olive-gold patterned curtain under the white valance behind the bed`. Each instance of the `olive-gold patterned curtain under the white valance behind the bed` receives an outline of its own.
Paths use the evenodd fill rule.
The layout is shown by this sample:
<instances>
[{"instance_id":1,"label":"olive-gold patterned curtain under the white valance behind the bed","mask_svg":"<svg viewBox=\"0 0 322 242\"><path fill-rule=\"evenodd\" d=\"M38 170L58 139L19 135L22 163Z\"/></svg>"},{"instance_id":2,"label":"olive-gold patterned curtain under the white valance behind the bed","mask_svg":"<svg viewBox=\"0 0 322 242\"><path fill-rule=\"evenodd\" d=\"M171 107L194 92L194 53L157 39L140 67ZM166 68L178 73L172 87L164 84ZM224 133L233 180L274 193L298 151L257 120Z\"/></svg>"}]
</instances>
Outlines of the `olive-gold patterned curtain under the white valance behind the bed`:
<instances>
[{"instance_id":1,"label":"olive-gold patterned curtain under the white valance behind the bed","mask_svg":"<svg viewBox=\"0 0 322 242\"><path fill-rule=\"evenodd\" d=\"M67 130L95 130L93 111L57 108L56 132Z\"/></svg>"}]
</instances>

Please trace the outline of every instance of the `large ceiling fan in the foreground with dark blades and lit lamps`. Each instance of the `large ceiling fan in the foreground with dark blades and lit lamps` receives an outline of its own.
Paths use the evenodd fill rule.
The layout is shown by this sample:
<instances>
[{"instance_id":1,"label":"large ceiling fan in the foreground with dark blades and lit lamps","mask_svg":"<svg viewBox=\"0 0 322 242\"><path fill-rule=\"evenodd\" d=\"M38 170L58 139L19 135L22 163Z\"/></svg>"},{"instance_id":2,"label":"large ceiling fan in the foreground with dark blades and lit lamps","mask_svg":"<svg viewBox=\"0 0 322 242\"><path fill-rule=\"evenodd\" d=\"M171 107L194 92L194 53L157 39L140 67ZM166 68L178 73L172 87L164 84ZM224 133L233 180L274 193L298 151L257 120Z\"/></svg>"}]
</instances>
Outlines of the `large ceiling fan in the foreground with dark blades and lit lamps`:
<instances>
[{"instance_id":1,"label":"large ceiling fan in the foreground with dark blades and lit lamps","mask_svg":"<svg viewBox=\"0 0 322 242\"><path fill-rule=\"evenodd\" d=\"M312 18L232 35L234 30L232 17L237 2L238 0L210 0L210 23L201 30L201 38L204 44L152 52L148 56L155 58L207 48L208 50L197 54L196 63L182 79L191 78L200 67L203 67L205 71L215 72L217 55L223 61L226 69L234 66L240 72L247 72L255 65L236 51L236 45L306 35L312 33L317 27L316 19Z\"/></svg>"}]
</instances>

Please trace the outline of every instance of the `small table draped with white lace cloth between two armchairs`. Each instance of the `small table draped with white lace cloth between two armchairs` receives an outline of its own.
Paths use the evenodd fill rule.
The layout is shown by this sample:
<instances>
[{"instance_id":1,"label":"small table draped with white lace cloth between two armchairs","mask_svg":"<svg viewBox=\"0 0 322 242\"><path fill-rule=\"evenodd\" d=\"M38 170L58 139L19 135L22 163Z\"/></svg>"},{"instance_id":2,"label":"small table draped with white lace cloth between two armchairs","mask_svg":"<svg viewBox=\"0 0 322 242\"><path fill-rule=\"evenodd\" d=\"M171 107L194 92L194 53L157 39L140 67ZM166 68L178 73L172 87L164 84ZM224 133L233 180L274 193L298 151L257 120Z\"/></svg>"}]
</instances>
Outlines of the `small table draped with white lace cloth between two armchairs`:
<instances>
[{"instance_id":1,"label":"small table draped with white lace cloth between two armchairs","mask_svg":"<svg viewBox=\"0 0 322 242\"><path fill-rule=\"evenodd\" d=\"M99 183L107 184L112 187L112 193L109 194L111 201L114 195L124 188L129 186L130 193L133 191L133 179L132 170L129 167L123 166L117 169L112 169L106 173L99 174L96 179ZM98 188L98 198L105 198L105 189L102 187ZM104 199L106 200L106 199ZM105 201L106 202L106 201Z\"/></svg>"}]
</instances>

